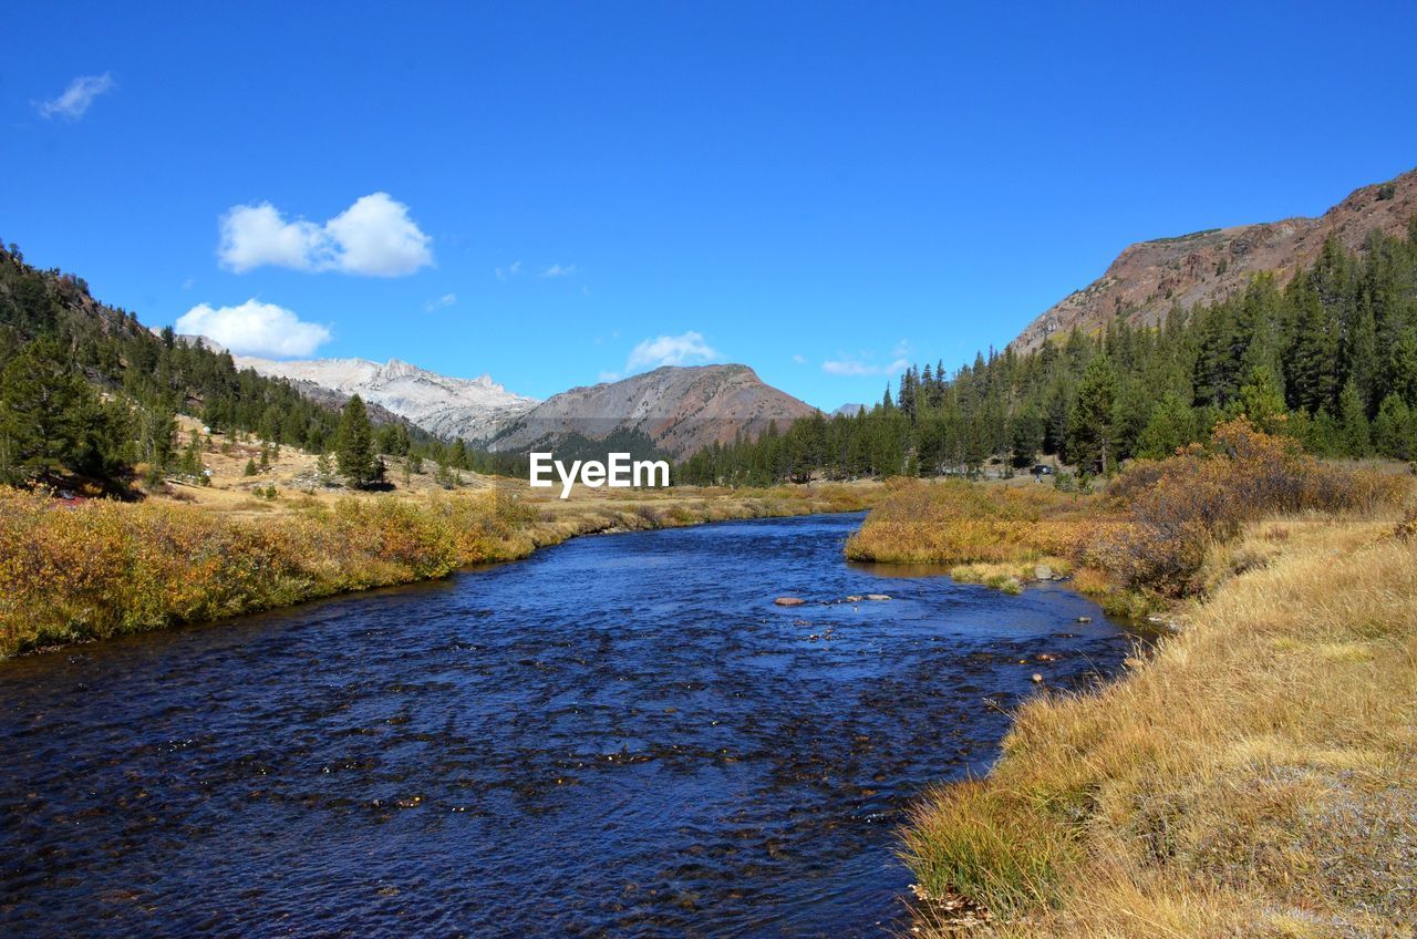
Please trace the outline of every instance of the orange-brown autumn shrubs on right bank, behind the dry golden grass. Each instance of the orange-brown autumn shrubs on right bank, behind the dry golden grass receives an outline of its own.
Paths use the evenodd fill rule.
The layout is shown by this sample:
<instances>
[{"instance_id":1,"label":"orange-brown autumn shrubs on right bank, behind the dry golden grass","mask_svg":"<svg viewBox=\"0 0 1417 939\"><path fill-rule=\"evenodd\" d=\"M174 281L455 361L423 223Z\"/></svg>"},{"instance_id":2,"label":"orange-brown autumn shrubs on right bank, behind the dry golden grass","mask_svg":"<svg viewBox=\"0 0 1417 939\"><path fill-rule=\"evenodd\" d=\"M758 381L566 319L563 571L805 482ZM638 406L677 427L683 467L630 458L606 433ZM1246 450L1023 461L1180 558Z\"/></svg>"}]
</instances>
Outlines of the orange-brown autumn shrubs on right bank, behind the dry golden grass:
<instances>
[{"instance_id":1,"label":"orange-brown autumn shrubs on right bank, behind the dry golden grass","mask_svg":"<svg viewBox=\"0 0 1417 939\"><path fill-rule=\"evenodd\" d=\"M1136 461L1105 492L897 481L846 545L847 557L951 567L1003 586L1037 563L1071 572L1110 613L1139 614L1203 593L1216 545L1258 518L1372 512L1399 504L1408 475L1325 464L1244 418L1159 461Z\"/></svg>"}]
</instances>

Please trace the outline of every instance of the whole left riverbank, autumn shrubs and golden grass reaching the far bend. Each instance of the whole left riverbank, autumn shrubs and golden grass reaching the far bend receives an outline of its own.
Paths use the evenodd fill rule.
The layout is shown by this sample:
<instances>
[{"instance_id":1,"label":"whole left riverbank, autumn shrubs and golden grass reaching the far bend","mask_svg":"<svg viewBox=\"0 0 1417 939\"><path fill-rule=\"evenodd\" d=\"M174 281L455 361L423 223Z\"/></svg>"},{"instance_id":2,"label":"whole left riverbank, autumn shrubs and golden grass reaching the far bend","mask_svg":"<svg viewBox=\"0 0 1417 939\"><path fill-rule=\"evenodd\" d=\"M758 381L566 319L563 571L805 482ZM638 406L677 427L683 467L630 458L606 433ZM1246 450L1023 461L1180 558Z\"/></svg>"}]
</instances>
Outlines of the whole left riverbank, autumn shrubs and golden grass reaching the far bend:
<instances>
[{"instance_id":1,"label":"whole left riverbank, autumn shrubs and golden grass reaching the far bend","mask_svg":"<svg viewBox=\"0 0 1417 939\"><path fill-rule=\"evenodd\" d=\"M215 620L513 560L577 535L866 508L873 487L670 489L568 502L473 492L293 496L262 512L65 506L0 488L0 655Z\"/></svg>"}]
</instances>

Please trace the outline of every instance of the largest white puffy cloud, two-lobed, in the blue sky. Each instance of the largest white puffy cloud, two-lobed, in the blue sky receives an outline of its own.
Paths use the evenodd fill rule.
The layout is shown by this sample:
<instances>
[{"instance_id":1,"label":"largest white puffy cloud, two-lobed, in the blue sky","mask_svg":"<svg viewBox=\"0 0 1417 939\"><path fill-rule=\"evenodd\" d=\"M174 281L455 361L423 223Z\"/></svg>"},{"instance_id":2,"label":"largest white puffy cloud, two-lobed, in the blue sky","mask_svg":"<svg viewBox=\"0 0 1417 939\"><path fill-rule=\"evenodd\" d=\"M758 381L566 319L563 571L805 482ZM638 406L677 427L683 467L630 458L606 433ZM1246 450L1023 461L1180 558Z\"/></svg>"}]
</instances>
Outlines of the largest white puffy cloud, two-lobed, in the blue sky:
<instances>
[{"instance_id":1,"label":"largest white puffy cloud, two-lobed, in the blue sky","mask_svg":"<svg viewBox=\"0 0 1417 939\"><path fill-rule=\"evenodd\" d=\"M432 238L388 193L361 196L323 226L286 221L271 203L232 206L221 217L217 257L238 274L272 264L296 271L402 277L434 262Z\"/></svg>"}]
</instances>

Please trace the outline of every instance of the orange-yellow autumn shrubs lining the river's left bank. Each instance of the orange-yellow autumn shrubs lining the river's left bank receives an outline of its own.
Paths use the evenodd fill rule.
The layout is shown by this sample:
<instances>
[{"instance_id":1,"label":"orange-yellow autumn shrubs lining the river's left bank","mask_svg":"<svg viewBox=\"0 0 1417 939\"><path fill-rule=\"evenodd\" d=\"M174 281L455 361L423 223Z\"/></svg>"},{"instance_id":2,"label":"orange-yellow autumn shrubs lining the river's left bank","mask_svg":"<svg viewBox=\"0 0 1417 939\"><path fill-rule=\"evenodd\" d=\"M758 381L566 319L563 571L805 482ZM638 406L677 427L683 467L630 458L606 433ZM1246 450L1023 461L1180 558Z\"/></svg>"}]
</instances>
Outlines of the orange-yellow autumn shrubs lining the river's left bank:
<instances>
[{"instance_id":1,"label":"orange-yellow autumn shrubs lining the river's left bank","mask_svg":"<svg viewBox=\"0 0 1417 939\"><path fill-rule=\"evenodd\" d=\"M0 654L439 577L529 553L529 525L495 495L349 498L249 521L0 488Z\"/></svg>"}]
</instances>

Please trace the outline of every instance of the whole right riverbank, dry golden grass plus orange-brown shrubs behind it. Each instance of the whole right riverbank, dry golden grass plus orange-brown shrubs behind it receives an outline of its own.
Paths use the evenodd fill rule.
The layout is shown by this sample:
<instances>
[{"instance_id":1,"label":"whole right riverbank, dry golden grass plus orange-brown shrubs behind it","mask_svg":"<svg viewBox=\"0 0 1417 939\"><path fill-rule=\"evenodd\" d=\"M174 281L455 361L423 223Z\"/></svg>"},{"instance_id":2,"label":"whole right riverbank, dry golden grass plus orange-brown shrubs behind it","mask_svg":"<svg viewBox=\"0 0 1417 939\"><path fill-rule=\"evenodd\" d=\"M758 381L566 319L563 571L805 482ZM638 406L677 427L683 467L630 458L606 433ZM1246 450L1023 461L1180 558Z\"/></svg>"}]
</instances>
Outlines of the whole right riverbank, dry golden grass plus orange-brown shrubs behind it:
<instances>
[{"instance_id":1,"label":"whole right riverbank, dry golden grass plus orange-brown shrubs behind it","mask_svg":"<svg viewBox=\"0 0 1417 939\"><path fill-rule=\"evenodd\" d=\"M988 776L920 804L905 852L928 898L924 932L1417 925L1410 475L1319 464L1223 427L1210 448L1138 467L1087 501L992 495L968 509L913 489L888 496L850 550L908 543L948 501L973 519L966 530L1019 538L975 557L956 535L925 546L932 560L1056 552L1084 589L1165 604L1178 624L1119 681L1033 698Z\"/></svg>"}]
</instances>

